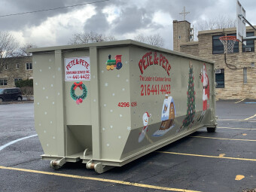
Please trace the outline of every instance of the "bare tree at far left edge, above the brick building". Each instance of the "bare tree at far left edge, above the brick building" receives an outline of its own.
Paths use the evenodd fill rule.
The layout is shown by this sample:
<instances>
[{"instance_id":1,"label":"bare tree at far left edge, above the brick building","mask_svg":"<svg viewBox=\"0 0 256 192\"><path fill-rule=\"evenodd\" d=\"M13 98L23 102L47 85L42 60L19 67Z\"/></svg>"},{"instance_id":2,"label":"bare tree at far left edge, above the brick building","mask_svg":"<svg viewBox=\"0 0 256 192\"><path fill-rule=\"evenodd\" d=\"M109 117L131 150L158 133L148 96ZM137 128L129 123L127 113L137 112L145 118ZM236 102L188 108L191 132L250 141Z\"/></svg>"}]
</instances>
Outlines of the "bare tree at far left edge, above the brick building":
<instances>
[{"instance_id":1,"label":"bare tree at far left edge, above the brick building","mask_svg":"<svg viewBox=\"0 0 256 192\"><path fill-rule=\"evenodd\" d=\"M7 58L19 56L19 43L10 32L0 32L0 72L7 66Z\"/></svg>"}]
</instances>

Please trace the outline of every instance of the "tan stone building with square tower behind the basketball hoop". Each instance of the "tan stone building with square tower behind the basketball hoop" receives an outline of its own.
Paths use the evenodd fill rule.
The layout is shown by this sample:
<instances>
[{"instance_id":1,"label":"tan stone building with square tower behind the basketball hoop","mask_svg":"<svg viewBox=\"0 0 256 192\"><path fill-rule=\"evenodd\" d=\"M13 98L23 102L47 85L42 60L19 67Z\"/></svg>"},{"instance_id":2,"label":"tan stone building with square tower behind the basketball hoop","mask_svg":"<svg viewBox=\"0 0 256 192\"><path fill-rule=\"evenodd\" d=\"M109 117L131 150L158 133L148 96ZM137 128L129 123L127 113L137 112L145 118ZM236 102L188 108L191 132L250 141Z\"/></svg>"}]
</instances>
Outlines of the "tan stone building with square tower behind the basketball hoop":
<instances>
[{"instance_id":1,"label":"tan stone building with square tower behind the basketball hoop","mask_svg":"<svg viewBox=\"0 0 256 192\"><path fill-rule=\"evenodd\" d=\"M200 56L215 62L217 99L255 99L256 98L256 55L255 41L247 41L246 46L236 42L233 53L226 54L219 37L236 36L236 28L216 29L198 32L198 41L191 39L190 23L173 21L173 50ZM247 36L255 36L251 27L246 29Z\"/></svg>"}]
</instances>

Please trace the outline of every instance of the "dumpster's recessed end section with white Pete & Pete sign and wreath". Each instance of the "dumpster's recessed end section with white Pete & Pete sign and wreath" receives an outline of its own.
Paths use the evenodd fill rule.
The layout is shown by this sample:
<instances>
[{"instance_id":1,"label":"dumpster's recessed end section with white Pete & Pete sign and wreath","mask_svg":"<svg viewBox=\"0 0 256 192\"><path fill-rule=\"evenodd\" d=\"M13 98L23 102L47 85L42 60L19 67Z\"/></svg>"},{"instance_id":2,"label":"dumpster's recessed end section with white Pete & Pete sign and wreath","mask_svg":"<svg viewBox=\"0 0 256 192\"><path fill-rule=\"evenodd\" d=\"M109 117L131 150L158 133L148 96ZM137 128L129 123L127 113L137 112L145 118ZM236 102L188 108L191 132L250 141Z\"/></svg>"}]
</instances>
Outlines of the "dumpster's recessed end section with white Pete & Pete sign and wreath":
<instances>
[{"instance_id":1,"label":"dumpster's recessed end section with white Pete & Pete sign and wreath","mask_svg":"<svg viewBox=\"0 0 256 192\"><path fill-rule=\"evenodd\" d=\"M63 67L66 72L64 85L66 155L72 157L80 157L85 149L93 150L90 91L92 74L90 67L81 61L87 61L88 65L91 65L89 49L63 51ZM74 74L69 75L72 72ZM85 74L90 75L90 78L86 78ZM69 81L68 77L72 78L72 81ZM74 96L79 96L81 102L78 102Z\"/></svg>"}]
</instances>

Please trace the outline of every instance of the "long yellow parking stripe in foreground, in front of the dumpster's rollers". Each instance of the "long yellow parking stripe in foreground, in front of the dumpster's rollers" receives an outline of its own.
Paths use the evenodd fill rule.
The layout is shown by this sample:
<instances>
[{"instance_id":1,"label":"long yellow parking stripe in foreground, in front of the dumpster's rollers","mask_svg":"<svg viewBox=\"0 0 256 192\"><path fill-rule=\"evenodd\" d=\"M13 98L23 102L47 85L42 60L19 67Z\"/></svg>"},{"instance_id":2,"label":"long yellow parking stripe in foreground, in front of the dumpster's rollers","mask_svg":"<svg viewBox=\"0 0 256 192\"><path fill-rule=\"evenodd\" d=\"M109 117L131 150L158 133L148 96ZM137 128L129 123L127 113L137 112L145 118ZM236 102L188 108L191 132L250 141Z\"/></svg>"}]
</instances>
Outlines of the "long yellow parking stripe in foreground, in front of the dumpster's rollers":
<instances>
[{"instance_id":1,"label":"long yellow parking stripe in foreground, in front of the dumpster's rollers","mask_svg":"<svg viewBox=\"0 0 256 192\"><path fill-rule=\"evenodd\" d=\"M66 178L80 178L80 179L85 179L85 180L102 181L102 182L108 182L108 183L114 183L114 184L124 184L124 185L130 185L130 186L135 186L135 187L151 188L151 189L156 189L156 190L200 192L198 190L185 190L185 189L177 189L177 188L170 188L170 187L160 187L160 186L151 185L151 184L131 183L128 181L118 181L118 180L112 180L112 179L106 179L106 178L85 177L85 176L79 176L79 175L68 175L68 174L62 174L62 173L56 173L56 172L43 172L43 171L37 171L37 170L32 170L32 169L20 169L20 168L7 167L7 166L0 166L0 169L8 169L8 170L14 170L14 171L20 171L20 172L33 172L33 173L38 173L38 174L54 175L54 176L60 176L60 177L66 177Z\"/></svg>"}]
</instances>

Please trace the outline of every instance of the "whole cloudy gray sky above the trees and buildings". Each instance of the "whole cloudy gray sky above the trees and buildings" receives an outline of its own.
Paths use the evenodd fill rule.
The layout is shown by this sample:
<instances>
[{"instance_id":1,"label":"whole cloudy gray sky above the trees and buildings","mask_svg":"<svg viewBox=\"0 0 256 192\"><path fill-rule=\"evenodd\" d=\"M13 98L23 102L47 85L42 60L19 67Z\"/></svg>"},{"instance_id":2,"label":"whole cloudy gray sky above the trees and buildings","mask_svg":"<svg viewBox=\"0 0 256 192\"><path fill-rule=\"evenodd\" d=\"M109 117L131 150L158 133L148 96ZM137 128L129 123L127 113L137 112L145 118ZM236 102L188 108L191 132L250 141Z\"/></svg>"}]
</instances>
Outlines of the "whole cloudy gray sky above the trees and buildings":
<instances>
[{"instance_id":1,"label":"whole cloudy gray sky above the trees and buildings","mask_svg":"<svg viewBox=\"0 0 256 192\"><path fill-rule=\"evenodd\" d=\"M236 20L236 0L1 0L0 30L12 32L21 44L38 47L68 44L73 34L83 31L133 39L139 33L159 33L164 47L172 49L172 21L183 20L184 6L190 14L186 20L194 26L205 20L226 17ZM96 2L96 3L92 3ZM255 0L239 0L246 18L256 25ZM19 14L29 11L81 5L53 11Z\"/></svg>"}]
</instances>

